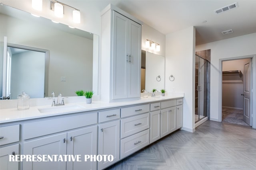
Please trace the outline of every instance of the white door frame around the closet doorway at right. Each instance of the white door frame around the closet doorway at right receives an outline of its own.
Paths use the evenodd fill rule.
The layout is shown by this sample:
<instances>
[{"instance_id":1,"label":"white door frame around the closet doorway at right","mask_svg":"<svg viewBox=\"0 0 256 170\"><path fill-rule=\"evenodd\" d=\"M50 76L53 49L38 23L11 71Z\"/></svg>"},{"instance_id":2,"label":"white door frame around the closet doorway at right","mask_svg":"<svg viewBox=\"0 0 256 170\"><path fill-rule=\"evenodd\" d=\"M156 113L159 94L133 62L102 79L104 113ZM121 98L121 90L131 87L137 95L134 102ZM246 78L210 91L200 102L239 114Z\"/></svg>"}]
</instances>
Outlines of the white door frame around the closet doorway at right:
<instances>
[{"instance_id":1,"label":"white door frame around the closet doorway at right","mask_svg":"<svg viewBox=\"0 0 256 170\"><path fill-rule=\"evenodd\" d=\"M230 60L238 60L238 59L252 59L252 103L256 99L256 74L254 73L256 70L256 55L246 55L240 57L231 57L226 59L219 60L219 121L222 122L222 61L230 61ZM253 74L254 73L254 74ZM252 128L256 129L256 106L252 104Z\"/></svg>"}]
</instances>

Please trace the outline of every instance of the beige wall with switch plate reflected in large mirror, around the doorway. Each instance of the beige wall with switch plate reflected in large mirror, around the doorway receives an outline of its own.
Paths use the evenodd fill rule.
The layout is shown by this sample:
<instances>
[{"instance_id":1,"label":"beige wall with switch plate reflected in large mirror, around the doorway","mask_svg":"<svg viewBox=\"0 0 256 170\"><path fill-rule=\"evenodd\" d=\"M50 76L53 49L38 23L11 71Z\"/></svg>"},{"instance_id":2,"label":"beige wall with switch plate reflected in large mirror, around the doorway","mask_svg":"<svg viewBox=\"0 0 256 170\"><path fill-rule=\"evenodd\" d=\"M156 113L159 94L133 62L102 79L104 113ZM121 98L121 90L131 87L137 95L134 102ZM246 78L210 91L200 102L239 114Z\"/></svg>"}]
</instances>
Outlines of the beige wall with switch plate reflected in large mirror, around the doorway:
<instances>
[{"instance_id":1,"label":"beige wall with switch plate reflected in large mirror, around the doorway","mask_svg":"<svg viewBox=\"0 0 256 170\"><path fill-rule=\"evenodd\" d=\"M52 91L76 96L76 90L92 90L93 40L4 15L0 29L0 41L7 36L8 43L49 50L46 96Z\"/></svg>"}]
</instances>

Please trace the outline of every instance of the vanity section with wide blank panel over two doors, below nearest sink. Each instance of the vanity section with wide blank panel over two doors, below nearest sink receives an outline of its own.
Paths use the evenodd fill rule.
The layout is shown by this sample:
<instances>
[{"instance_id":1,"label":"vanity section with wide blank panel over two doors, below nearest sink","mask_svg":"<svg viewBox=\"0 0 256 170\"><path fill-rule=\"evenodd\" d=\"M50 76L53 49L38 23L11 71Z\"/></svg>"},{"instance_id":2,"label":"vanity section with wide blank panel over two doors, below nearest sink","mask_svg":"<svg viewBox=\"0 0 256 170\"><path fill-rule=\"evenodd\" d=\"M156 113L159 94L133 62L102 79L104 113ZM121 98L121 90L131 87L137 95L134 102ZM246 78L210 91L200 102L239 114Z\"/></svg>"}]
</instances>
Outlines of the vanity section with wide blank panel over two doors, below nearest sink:
<instances>
[{"instance_id":1,"label":"vanity section with wide blank panel over two doors, below nearest sink","mask_svg":"<svg viewBox=\"0 0 256 170\"><path fill-rule=\"evenodd\" d=\"M81 155L82 161L25 161L23 162L23 170L77 170L83 168L89 170L96 169L96 162L84 161L85 154L97 154L97 125L93 125L96 123L97 113L79 114L74 116L25 123L23 125L23 154L73 154Z\"/></svg>"}]
</instances>

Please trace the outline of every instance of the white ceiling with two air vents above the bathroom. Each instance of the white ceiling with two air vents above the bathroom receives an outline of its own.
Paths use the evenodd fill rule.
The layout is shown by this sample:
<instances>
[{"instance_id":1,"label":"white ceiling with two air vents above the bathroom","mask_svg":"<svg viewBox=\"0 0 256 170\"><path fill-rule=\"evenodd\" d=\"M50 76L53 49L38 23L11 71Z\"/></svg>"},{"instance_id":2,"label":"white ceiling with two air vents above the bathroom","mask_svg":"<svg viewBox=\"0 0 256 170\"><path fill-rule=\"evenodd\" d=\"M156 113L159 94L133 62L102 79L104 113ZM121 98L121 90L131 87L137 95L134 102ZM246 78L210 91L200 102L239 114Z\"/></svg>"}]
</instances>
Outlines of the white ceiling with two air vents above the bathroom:
<instances>
[{"instance_id":1,"label":"white ceiling with two air vents above the bathroom","mask_svg":"<svg viewBox=\"0 0 256 170\"><path fill-rule=\"evenodd\" d=\"M238 8L214 13L234 2ZM112 3L165 35L195 26L196 45L256 32L256 0L76 0L76 3L80 9L90 4L96 10ZM228 29L234 33L222 35Z\"/></svg>"}]
</instances>

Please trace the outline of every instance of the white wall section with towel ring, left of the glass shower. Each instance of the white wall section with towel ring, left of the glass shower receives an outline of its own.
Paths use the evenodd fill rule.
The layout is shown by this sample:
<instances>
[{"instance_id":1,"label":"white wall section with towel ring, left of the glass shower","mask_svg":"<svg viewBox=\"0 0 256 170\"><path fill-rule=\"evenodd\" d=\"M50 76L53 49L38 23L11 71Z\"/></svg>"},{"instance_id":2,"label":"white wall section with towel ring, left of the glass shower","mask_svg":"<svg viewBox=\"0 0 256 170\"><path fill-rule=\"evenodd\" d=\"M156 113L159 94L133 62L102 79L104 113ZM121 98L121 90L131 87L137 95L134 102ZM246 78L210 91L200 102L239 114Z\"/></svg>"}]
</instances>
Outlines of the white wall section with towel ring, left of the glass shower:
<instances>
[{"instance_id":1,"label":"white wall section with towel ring, left of the glass shower","mask_svg":"<svg viewBox=\"0 0 256 170\"><path fill-rule=\"evenodd\" d=\"M166 35L166 79L168 92L184 92L183 129L194 131L195 29L188 27ZM169 76L175 80L171 82Z\"/></svg>"}]
</instances>

